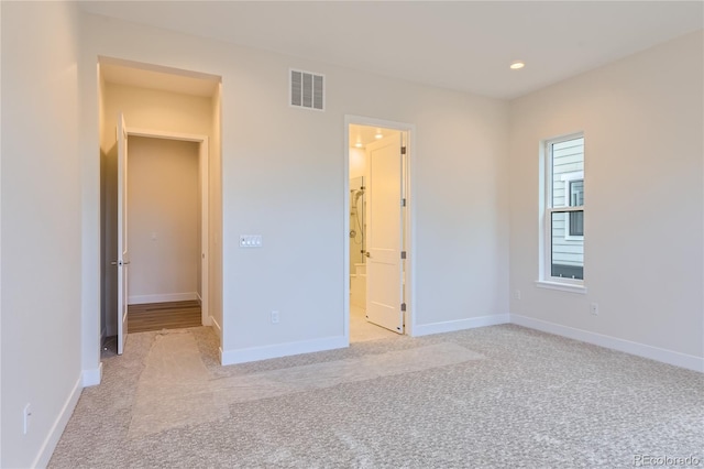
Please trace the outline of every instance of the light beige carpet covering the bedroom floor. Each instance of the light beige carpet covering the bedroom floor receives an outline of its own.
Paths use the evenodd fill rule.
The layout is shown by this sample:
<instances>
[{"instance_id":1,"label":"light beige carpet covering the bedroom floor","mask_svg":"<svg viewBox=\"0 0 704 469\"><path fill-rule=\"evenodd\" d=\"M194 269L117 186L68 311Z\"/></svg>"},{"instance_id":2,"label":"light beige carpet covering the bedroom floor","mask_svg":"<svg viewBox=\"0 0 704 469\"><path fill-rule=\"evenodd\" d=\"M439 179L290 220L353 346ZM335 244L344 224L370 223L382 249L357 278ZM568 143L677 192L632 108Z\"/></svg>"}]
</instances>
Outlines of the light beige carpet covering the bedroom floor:
<instances>
[{"instance_id":1,"label":"light beige carpet covering the bedroom floor","mask_svg":"<svg viewBox=\"0 0 704 469\"><path fill-rule=\"evenodd\" d=\"M217 346L130 335L50 467L704 466L704 374L518 326L231 367Z\"/></svg>"}]
</instances>

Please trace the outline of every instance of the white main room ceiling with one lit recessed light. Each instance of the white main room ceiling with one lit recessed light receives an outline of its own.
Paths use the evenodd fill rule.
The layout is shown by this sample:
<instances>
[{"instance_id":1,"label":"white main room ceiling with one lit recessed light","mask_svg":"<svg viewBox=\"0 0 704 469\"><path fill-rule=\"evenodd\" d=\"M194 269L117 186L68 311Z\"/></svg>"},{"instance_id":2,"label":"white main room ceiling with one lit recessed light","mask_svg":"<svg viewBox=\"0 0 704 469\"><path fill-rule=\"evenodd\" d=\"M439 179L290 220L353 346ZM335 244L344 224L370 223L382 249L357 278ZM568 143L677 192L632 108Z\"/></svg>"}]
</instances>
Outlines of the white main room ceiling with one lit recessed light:
<instances>
[{"instance_id":1,"label":"white main room ceiling with one lit recessed light","mask_svg":"<svg viewBox=\"0 0 704 469\"><path fill-rule=\"evenodd\" d=\"M510 99L704 28L701 1L82 1L161 29ZM512 70L516 59L526 67Z\"/></svg>"}]
</instances>

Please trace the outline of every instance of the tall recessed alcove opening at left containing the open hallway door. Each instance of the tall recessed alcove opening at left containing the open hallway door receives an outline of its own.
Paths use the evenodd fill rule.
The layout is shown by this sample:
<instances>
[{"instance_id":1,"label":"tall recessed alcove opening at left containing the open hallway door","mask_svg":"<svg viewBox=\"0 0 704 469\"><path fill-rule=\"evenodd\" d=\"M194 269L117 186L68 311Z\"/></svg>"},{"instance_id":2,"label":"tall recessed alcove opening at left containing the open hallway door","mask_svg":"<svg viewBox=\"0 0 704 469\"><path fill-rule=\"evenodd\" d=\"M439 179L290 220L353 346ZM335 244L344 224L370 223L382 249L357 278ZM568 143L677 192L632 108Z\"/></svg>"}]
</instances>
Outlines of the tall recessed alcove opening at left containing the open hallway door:
<instances>
[{"instance_id":1,"label":"tall recessed alcove opening at left containing the open hallway door","mask_svg":"<svg viewBox=\"0 0 704 469\"><path fill-rule=\"evenodd\" d=\"M99 78L101 336L122 352L130 309L170 303L162 313L177 316L177 302L197 302L198 325L220 336L220 80L106 57Z\"/></svg>"}]
</instances>

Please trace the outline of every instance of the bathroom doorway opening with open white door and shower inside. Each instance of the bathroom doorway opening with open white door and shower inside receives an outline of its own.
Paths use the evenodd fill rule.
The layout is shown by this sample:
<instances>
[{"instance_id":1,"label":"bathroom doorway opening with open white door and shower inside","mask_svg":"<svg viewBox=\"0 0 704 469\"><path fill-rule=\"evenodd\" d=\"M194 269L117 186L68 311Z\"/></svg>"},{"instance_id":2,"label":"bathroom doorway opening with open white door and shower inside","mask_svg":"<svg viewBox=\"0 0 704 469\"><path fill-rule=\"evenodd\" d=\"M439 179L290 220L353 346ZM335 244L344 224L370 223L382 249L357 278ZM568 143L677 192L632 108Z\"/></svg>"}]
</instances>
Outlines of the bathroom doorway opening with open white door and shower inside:
<instances>
[{"instance_id":1,"label":"bathroom doorway opening with open white door and shower inside","mask_svg":"<svg viewBox=\"0 0 704 469\"><path fill-rule=\"evenodd\" d=\"M346 130L350 342L398 337L410 323L410 130L364 118Z\"/></svg>"}]
</instances>

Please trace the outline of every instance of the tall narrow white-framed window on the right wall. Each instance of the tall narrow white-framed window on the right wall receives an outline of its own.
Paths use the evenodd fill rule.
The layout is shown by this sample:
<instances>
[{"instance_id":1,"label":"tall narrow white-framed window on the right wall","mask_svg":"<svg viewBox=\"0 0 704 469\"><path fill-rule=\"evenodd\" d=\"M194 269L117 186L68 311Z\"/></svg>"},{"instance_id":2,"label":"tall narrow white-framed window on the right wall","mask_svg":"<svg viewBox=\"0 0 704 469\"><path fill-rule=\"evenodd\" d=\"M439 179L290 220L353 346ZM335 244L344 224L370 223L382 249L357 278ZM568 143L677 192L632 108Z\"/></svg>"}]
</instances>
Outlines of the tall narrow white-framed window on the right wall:
<instances>
[{"instance_id":1,"label":"tall narrow white-framed window on the right wall","mask_svg":"<svg viewBox=\"0 0 704 469\"><path fill-rule=\"evenodd\" d=\"M584 137L544 143L543 261L541 281L584 283Z\"/></svg>"}]
</instances>

